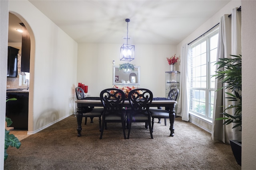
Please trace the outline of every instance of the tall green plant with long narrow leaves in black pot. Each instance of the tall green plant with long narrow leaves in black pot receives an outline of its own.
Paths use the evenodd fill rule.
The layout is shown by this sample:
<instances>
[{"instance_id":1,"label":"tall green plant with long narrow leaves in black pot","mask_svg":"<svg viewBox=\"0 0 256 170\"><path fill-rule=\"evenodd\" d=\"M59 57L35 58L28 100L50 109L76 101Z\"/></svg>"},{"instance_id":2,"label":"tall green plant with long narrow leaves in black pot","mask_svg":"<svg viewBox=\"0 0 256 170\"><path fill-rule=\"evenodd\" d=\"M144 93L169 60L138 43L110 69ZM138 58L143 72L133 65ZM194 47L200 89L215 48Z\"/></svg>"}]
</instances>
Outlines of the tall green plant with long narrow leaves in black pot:
<instances>
[{"instance_id":1,"label":"tall green plant with long narrow leaves in black pot","mask_svg":"<svg viewBox=\"0 0 256 170\"><path fill-rule=\"evenodd\" d=\"M228 125L230 123L235 123L232 128L240 128L242 131L242 55L230 55L233 58L219 59L216 64L219 64L216 78L219 78L223 84L221 89L230 89L232 93L225 92L228 94L228 101L235 102L224 109L221 113L224 116L217 118L216 120L225 120L223 125ZM223 106L224 107L224 106ZM233 109L235 112L231 115L225 111L228 109ZM230 145L236 161L241 165L241 150L242 141L230 140Z\"/></svg>"}]
</instances>

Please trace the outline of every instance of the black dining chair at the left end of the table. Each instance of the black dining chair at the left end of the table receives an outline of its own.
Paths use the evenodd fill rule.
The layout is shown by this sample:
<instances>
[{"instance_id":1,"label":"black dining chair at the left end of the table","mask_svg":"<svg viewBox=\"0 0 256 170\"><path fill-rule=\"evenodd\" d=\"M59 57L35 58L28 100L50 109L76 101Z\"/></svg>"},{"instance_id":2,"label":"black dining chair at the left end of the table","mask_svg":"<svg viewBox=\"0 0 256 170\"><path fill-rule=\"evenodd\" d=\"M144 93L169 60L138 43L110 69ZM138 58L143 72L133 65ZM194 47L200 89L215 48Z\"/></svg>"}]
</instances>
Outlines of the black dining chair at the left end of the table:
<instances>
[{"instance_id":1,"label":"black dining chair at the left end of the table","mask_svg":"<svg viewBox=\"0 0 256 170\"><path fill-rule=\"evenodd\" d=\"M80 87L76 87L76 99L81 100L84 98L84 90ZM87 124L87 118L90 117L90 123L93 123L93 118L99 118L99 125L101 131L101 116L104 108L93 108L93 107L83 107L83 117L85 117L84 124Z\"/></svg>"}]
</instances>

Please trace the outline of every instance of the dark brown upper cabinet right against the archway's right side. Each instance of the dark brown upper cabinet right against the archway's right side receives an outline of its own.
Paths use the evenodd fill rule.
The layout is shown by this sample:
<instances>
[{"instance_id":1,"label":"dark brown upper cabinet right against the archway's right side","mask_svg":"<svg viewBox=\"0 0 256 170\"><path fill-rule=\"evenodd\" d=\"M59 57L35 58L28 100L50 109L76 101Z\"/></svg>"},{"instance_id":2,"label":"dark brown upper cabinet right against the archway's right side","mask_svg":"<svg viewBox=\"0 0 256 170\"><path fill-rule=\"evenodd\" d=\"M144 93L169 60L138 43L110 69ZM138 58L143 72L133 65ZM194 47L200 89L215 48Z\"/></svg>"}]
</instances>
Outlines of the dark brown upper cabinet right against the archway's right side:
<instances>
[{"instance_id":1,"label":"dark brown upper cabinet right against the archway's right side","mask_svg":"<svg viewBox=\"0 0 256 170\"><path fill-rule=\"evenodd\" d=\"M20 71L30 72L30 35L23 23L22 25L22 46L21 46L21 66Z\"/></svg>"}]
</instances>

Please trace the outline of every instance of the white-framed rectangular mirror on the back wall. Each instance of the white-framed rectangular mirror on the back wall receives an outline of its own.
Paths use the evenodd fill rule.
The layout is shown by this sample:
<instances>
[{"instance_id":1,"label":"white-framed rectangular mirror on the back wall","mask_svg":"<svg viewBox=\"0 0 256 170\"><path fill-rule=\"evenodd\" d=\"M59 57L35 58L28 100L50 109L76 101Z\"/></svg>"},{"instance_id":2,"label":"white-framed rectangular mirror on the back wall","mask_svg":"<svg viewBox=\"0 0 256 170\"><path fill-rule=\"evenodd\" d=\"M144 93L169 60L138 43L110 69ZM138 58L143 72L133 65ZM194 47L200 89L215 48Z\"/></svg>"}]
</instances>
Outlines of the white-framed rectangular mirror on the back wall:
<instances>
[{"instance_id":1,"label":"white-framed rectangular mirror on the back wall","mask_svg":"<svg viewBox=\"0 0 256 170\"><path fill-rule=\"evenodd\" d=\"M140 85L140 66L134 66L134 70L119 70L119 66L113 66L113 85Z\"/></svg>"}]
</instances>

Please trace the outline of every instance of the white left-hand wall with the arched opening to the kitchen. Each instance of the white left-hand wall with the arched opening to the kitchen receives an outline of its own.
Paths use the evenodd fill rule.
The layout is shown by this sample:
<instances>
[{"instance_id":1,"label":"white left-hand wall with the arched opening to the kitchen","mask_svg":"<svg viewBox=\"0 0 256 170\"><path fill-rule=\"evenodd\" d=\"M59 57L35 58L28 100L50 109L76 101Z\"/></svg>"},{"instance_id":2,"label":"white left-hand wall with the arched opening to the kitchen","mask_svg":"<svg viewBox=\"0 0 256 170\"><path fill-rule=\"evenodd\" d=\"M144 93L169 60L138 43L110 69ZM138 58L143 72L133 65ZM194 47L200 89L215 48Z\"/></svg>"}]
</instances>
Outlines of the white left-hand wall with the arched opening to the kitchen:
<instances>
[{"instance_id":1,"label":"white left-hand wall with the arched opening to the kitchen","mask_svg":"<svg viewBox=\"0 0 256 170\"><path fill-rule=\"evenodd\" d=\"M77 43L29 1L9 1L31 39L28 133L70 114L76 84Z\"/></svg>"}]
</instances>

